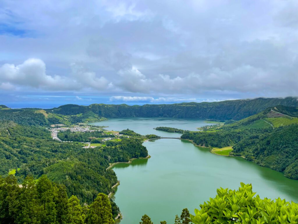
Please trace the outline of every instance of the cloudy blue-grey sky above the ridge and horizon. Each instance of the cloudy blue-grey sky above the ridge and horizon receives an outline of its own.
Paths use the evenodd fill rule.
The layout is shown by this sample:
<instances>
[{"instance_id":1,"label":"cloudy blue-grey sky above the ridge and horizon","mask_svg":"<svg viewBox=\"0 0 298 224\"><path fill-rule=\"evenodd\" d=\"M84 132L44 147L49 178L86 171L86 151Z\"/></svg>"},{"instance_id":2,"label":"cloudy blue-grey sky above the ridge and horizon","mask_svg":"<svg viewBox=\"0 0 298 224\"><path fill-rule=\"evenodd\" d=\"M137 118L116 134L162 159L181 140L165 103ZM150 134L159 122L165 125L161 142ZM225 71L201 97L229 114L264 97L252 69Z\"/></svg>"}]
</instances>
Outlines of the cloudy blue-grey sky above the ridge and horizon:
<instances>
[{"instance_id":1,"label":"cloudy blue-grey sky above the ridge and horizon","mask_svg":"<svg viewBox=\"0 0 298 224\"><path fill-rule=\"evenodd\" d=\"M0 1L0 104L298 96L297 0Z\"/></svg>"}]
</instances>

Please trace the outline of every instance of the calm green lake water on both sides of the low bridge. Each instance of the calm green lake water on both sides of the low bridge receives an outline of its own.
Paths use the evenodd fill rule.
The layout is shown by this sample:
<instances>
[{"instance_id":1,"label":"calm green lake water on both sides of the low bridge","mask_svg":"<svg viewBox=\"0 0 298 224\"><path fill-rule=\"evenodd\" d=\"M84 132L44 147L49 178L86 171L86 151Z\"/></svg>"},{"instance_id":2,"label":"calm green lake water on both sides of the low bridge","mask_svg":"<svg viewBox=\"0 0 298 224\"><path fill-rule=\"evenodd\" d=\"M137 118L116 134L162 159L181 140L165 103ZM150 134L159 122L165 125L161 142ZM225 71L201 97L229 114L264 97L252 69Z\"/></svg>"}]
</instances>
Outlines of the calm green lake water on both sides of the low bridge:
<instances>
[{"instance_id":1,"label":"calm green lake water on both sides of the low bridge","mask_svg":"<svg viewBox=\"0 0 298 224\"><path fill-rule=\"evenodd\" d=\"M204 126L202 120L164 118L124 118L98 122L108 130L129 128L140 134L180 136L177 133L156 131L152 128L167 126L193 130ZM158 139L144 142L150 159L136 159L131 164L117 164L120 185L115 202L123 220L120 224L139 223L145 213L153 223L166 220L174 223L175 215L195 208L216 195L219 187L237 189L240 182L252 183L260 197L285 198L298 202L298 181L282 173L260 167L240 157L223 157L207 149L179 139Z\"/></svg>"}]
</instances>

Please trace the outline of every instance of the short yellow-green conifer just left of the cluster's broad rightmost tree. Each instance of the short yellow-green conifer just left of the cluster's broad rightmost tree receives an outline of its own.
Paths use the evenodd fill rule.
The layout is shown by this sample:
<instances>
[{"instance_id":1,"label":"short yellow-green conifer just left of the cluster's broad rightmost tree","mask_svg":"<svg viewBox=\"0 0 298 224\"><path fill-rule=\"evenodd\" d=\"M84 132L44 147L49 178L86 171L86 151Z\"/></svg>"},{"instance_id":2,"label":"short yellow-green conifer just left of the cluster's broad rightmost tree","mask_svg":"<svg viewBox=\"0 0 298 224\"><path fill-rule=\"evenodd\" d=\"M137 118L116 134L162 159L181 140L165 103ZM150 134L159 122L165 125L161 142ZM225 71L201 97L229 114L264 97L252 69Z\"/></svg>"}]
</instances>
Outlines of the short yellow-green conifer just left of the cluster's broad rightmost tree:
<instances>
[{"instance_id":1,"label":"short yellow-green conifer just left of the cluster's broad rightmost tree","mask_svg":"<svg viewBox=\"0 0 298 224\"><path fill-rule=\"evenodd\" d=\"M68 200L69 224L83 224L82 207L77 196L72 195Z\"/></svg>"}]
</instances>

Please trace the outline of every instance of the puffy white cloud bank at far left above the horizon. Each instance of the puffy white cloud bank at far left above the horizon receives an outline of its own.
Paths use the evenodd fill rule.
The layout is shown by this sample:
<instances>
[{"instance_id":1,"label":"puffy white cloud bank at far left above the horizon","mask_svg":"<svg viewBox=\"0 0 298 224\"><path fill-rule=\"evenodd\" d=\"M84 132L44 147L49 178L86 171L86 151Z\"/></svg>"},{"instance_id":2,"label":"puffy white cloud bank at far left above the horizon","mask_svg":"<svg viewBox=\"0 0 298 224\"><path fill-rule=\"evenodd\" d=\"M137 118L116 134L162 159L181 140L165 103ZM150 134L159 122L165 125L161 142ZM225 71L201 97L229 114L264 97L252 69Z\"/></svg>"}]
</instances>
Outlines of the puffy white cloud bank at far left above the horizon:
<instances>
[{"instance_id":1,"label":"puffy white cloud bank at far left above the horizon","mask_svg":"<svg viewBox=\"0 0 298 224\"><path fill-rule=\"evenodd\" d=\"M46 65L41 59L27 59L20 65L4 64L0 66L2 89L25 86L43 90L105 90L109 82L105 77L86 71L83 67L72 65L70 76L47 75Z\"/></svg>"}]
</instances>

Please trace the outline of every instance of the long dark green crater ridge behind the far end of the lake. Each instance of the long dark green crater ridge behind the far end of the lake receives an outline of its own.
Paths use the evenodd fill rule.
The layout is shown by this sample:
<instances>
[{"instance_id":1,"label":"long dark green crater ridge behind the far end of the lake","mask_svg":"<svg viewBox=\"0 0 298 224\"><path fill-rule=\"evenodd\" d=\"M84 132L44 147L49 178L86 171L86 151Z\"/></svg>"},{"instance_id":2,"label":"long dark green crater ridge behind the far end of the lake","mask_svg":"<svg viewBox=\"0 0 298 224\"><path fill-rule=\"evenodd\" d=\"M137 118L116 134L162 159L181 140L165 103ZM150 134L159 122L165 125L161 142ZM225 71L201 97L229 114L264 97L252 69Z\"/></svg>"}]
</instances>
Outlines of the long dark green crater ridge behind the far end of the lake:
<instances>
[{"instance_id":1,"label":"long dark green crater ridge behind the far end of the lake","mask_svg":"<svg viewBox=\"0 0 298 224\"><path fill-rule=\"evenodd\" d=\"M221 102L177 103L159 105L63 105L47 109L51 113L77 115L92 111L100 117L179 117L215 120L240 120L276 105L298 107L297 97L226 100Z\"/></svg>"}]
</instances>

